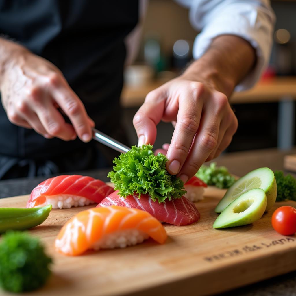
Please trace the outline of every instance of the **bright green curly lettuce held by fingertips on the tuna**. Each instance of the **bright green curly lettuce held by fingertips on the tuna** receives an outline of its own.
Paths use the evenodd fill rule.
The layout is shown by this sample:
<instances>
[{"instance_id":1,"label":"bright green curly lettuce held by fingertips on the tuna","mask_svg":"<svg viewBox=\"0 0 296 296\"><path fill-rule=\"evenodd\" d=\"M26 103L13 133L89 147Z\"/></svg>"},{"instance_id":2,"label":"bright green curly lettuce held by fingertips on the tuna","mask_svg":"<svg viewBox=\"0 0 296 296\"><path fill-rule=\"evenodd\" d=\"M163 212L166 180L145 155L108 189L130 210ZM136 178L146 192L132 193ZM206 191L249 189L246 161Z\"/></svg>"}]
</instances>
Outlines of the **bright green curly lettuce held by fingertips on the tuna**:
<instances>
[{"instance_id":1,"label":"bright green curly lettuce held by fingertips on the tuna","mask_svg":"<svg viewBox=\"0 0 296 296\"><path fill-rule=\"evenodd\" d=\"M108 177L121 197L134 192L139 194L139 198L141 194L149 194L154 202L159 203L180 198L186 193L184 183L168 173L165 167L167 160L161 153L154 155L152 145L132 146L130 151L113 160L116 166Z\"/></svg>"}]
</instances>

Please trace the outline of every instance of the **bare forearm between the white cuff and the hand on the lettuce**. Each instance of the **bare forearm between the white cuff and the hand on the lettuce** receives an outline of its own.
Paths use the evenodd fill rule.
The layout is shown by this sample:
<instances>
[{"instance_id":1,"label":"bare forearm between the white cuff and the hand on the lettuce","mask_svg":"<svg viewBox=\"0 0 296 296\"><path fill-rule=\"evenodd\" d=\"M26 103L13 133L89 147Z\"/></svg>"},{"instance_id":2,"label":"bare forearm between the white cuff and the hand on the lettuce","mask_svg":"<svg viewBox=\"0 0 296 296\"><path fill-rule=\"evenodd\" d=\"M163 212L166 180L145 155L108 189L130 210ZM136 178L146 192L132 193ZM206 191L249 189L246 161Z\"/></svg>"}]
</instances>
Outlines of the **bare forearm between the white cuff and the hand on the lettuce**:
<instances>
[{"instance_id":1,"label":"bare forearm between the white cuff and the hand on the lettuce","mask_svg":"<svg viewBox=\"0 0 296 296\"><path fill-rule=\"evenodd\" d=\"M215 38L205 54L193 62L182 76L203 80L209 87L230 96L234 87L250 72L255 50L244 39L233 35Z\"/></svg>"}]
</instances>

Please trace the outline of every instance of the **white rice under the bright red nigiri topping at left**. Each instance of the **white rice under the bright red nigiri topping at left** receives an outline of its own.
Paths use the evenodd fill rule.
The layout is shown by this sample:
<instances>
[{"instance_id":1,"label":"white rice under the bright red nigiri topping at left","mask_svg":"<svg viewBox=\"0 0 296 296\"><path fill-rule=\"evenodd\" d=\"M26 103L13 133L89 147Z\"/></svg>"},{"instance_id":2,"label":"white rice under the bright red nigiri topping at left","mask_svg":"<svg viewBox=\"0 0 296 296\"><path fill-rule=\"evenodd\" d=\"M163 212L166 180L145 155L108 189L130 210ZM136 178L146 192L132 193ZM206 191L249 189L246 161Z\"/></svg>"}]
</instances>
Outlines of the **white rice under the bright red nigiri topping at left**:
<instances>
[{"instance_id":1,"label":"white rice under the bright red nigiri topping at left","mask_svg":"<svg viewBox=\"0 0 296 296\"><path fill-rule=\"evenodd\" d=\"M70 194L47 196L46 201L38 207L45 205L52 205L53 209L69 209L70 207L82 207L84 205L91 205L95 202L83 196L73 196Z\"/></svg>"}]
</instances>

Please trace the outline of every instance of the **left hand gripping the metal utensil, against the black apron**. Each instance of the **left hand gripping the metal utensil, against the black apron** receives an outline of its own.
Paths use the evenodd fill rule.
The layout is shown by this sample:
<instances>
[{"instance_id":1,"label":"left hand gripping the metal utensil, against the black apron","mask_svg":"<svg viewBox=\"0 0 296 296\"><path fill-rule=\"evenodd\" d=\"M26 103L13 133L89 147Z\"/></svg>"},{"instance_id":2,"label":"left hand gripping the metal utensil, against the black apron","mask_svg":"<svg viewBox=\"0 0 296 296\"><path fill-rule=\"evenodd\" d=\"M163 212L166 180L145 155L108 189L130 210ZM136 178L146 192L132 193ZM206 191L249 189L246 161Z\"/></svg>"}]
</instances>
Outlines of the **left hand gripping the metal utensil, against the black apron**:
<instances>
[{"instance_id":1,"label":"left hand gripping the metal utensil, against the black apron","mask_svg":"<svg viewBox=\"0 0 296 296\"><path fill-rule=\"evenodd\" d=\"M82 141L90 141L94 122L61 71L24 47L0 40L1 51L5 52L9 47L11 54L0 74L0 91L10 122L33 128L45 138L57 137L69 141L78 135ZM65 122L58 107L72 124Z\"/></svg>"}]
</instances>

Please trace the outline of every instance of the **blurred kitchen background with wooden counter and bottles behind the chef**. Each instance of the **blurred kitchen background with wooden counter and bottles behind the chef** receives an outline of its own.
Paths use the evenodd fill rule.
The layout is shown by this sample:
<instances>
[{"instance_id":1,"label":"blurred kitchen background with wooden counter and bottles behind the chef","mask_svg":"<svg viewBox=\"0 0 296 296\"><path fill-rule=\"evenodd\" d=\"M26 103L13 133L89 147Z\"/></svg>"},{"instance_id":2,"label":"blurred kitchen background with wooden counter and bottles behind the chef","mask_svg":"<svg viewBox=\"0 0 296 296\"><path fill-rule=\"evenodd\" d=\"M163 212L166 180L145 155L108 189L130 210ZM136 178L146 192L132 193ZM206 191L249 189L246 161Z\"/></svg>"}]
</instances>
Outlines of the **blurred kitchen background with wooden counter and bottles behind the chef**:
<instances>
[{"instance_id":1,"label":"blurred kitchen background with wooden counter and bottles behind the chef","mask_svg":"<svg viewBox=\"0 0 296 296\"><path fill-rule=\"evenodd\" d=\"M123 120L131 144L137 144L133 115L146 94L176 77L192 59L197 31L188 10L172 0L148 1L139 54L126 68ZM296 1L271 1L276 14L270 65L251 91L230 98L239 128L227 152L295 146ZM161 122L154 147L170 142L173 127Z\"/></svg>"}]
</instances>

